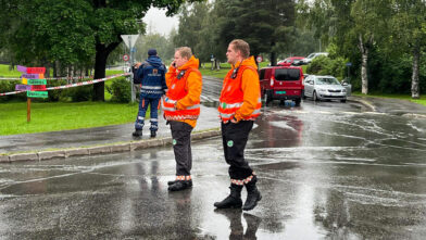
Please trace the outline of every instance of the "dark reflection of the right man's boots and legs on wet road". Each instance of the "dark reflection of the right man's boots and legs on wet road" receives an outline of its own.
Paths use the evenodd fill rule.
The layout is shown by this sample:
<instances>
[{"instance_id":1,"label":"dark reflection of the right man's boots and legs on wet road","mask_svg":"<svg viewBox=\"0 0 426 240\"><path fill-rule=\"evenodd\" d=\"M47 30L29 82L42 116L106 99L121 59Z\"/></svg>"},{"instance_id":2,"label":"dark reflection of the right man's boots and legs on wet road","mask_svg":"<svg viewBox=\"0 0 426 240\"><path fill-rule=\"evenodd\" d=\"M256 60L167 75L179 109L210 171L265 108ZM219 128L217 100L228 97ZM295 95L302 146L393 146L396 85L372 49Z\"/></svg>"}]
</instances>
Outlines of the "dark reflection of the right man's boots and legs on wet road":
<instances>
[{"instance_id":1,"label":"dark reflection of the right man's boots and legs on wet road","mask_svg":"<svg viewBox=\"0 0 426 240\"><path fill-rule=\"evenodd\" d=\"M242 214L242 211L238 209L236 210L216 209L214 212L226 216L226 218L229 220L229 228L230 228L229 240L258 239L255 233L258 231L259 225L262 222L260 217L256 217L248 213ZM241 215L245 217L245 220L247 223L246 233L241 223Z\"/></svg>"}]
</instances>

